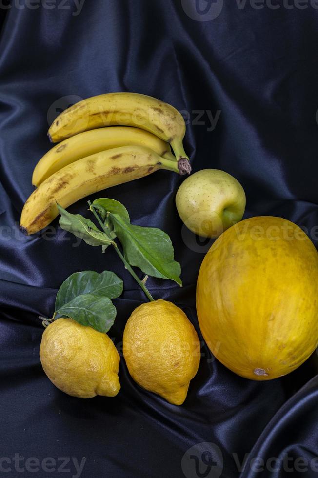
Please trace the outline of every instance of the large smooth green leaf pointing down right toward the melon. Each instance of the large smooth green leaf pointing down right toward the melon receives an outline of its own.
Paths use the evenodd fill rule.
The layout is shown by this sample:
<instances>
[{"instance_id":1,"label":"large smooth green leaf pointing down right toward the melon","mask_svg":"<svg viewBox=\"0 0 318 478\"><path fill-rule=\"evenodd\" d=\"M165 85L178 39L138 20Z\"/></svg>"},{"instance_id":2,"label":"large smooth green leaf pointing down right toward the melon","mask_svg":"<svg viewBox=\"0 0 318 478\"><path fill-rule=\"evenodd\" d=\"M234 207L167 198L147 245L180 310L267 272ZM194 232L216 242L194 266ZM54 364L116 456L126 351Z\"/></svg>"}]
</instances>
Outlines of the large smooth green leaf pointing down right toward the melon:
<instances>
[{"instance_id":1,"label":"large smooth green leaf pointing down right toward the melon","mask_svg":"<svg viewBox=\"0 0 318 478\"><path fill-rule=\"evenodd\" d=\"M181 267L174 260L172 242L166 233L154 227L134 226L118 214L109 217L130 265L138 266L149 276L172 279L182 285Z\"/></svg>"}]
</instances>

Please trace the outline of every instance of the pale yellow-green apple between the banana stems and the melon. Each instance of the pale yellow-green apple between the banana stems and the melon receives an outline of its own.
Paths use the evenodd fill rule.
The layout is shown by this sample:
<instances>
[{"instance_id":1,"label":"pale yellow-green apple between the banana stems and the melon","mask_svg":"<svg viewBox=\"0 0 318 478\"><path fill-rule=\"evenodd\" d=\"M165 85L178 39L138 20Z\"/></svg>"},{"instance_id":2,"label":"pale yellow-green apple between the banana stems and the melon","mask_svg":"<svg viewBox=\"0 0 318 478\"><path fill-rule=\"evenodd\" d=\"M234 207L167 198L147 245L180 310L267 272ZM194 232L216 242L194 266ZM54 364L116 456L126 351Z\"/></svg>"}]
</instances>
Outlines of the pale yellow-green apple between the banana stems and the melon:
<instances>
[{"instance_id":1,"label":"pale yellow-green apple between the banana stems and the melon","mask_svg":"<svg viewBox=\"0 0 318 478\"><path fill-rule=\"evenodd\" d=\"M202 169L189 176L177 192L179 216L190 231L217 238L239 222L245 210L245 193L239 181L219 169Z\"/></svg>"}]
</instances>

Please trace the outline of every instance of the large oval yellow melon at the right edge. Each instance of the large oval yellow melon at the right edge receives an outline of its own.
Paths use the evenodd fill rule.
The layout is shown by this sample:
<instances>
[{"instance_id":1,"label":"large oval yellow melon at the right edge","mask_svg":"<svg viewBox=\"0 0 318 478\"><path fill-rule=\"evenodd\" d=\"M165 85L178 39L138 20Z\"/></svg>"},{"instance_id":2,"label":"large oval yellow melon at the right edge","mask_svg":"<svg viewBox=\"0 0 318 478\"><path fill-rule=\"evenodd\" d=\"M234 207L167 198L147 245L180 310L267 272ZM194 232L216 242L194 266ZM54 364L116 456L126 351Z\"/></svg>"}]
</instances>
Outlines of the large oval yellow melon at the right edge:
<instances>
[{"instance_id":1,"label":"large oval yellow melon at the right edge","mask_svg":"<svg viewBox=\"0 0 318 478\"><path fill-rule=\"evenodd\" d=\"M295 370L318 344L318 253L294 223L245 219L203 259L197 284L201 332L238 375L270 380Z\"/></svg>"}]
</instances>

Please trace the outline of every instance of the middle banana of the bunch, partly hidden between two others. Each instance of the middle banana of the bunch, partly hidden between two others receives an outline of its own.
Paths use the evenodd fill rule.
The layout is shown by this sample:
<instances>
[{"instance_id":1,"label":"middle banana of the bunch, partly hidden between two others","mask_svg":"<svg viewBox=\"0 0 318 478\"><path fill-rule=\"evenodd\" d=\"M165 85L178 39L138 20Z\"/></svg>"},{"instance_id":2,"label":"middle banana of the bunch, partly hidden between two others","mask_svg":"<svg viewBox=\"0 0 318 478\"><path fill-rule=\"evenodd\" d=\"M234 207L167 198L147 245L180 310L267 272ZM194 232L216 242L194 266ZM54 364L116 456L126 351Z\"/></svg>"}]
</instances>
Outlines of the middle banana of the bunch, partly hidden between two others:
<instances>
[{"instance_id":1,"label":"middle banana of the bunch, partly hidden between two others","mask_svg":"<svg viewBox=\"0 0 318 478\"><path fill-rule=\"evenodd\" d=\"M176 161L171 153L170 145L144 129L128 126L99 128L65 139L48 151L34 169L32 184L38 187L52 174L78 159L107 149L128 145L146 146L158 153L159 156Z\"/></svg>"}]
</instances>

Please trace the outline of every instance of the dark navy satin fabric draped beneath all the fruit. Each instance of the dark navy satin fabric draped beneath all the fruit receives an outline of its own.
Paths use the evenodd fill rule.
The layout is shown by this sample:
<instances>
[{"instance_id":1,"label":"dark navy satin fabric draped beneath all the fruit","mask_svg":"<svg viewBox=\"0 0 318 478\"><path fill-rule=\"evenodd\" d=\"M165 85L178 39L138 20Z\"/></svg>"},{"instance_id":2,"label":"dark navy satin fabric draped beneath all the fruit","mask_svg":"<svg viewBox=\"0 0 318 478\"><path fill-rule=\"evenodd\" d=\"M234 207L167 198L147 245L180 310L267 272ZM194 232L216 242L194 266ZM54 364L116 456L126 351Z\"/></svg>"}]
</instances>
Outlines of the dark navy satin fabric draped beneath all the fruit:
<instances>
[{"instance_id":1,"label":"dark navy satin fabric draped beneath all the fruit","mask_svg":"<svg viewBox=\"0 0 318 478\"><path fill-rule=\"evenodd\" d=\"M201 2L203 15L209 4ZM245 217L290 219L318 243L318 10L292 1L294 8L256 9L248 1L239 8L233 0L217 18L199 21L185 3L191 0L86 0L78 15L71 1L69 9L30 9L25 0L0 9L0 458L86 458L85 478L316 477L317 467L295 465L318 456L316 354L294 373L260 383L227 370L202 341L199 372L180 407L139 388L123 358L116 398L69 397L40 365L38 316L52 316L57 289L73 272L107 269L124 279L109 332L119 350L126 320L145 301L113 251L78 245L57 221L56 234L19 232L33 168L50 148L47 116L74 96L136 91L173 104L189 118L185 148L195 171L234 175L246 191ZM214 129L209 114L219 114ZM90 199L120 200L135 224L170 235L183 288L159 279L148 285L156 299L180 306L200 334L195 288L210 244L182 227L174 202L181 181L161 171ZM86 199L69 210L87 214ZM187 461L194 445L203 452ZM207 456L223 461L221 475L209 473ZM255 471L253 458L277 460ZM66 468L64 476L76 475ZM11 464L0 475L60 472L21 474Z\"/></svg>"}]
</instances>

